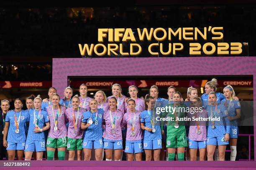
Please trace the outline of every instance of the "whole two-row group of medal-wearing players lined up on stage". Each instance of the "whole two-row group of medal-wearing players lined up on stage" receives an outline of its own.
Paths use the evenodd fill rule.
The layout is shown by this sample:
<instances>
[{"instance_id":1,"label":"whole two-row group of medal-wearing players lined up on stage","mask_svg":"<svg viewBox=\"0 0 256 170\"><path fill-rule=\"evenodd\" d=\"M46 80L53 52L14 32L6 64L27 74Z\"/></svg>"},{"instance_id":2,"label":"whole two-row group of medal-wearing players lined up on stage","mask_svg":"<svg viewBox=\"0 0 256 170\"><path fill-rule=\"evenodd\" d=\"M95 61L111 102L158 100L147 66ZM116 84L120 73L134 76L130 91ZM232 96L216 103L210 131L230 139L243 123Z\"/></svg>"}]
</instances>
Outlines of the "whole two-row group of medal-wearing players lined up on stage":
<instances>
[{"instance_id":1,"label":"whole two-row group of medal-wearing players lined up on stage","mask_svg":"<svg viewBox=\"0 0 256 170\"><path fill-rule=\"evenodd\" d=\"M44 154L47 160L65 160L67 150L68 160L103 160L105 154L105 160L119 161L124 143L130 161L142 160L143 153L147 161L203 161L225 160L230 144L234 161L241 105L232 86L221 93L216 92L217 85L214 78L207 82L201 97L196 88L189 87L185 100L173 86L167 89L168 99L159 98L156 85L144 98L138 97L138 88L132 85L126 97L119 84L111 87L112 96L100 90L95 98L87 96L85 84L79 87L80 96L73 96L71 87L65 88L63 99L51 87L48 99L27 97L28 110L22 110L19 98L14 110L9 110L8 100L2 100L3 146L8 160L14 160L15 154L17 160L24 154L25 160L32 156L42 160ZM157 107L172 109L156 114ZM201 110L187 112L192 107ZM185 118L193 121L187 124Z\"/></svg>"}]
</instances>

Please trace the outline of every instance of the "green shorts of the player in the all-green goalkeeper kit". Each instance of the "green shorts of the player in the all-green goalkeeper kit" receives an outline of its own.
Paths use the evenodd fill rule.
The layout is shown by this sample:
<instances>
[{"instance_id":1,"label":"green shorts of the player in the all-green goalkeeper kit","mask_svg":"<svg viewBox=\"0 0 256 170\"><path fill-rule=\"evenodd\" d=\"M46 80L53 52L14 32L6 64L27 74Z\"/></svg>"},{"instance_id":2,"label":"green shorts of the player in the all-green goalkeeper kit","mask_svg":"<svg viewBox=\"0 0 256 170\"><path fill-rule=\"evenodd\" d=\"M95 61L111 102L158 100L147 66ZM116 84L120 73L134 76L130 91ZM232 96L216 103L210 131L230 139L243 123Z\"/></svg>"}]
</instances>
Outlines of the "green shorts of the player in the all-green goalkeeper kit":
<instances>
[{"instance_id":1,"label":"green shorts of the player in the all-green goalkeeper kit","mask_svg":"<svg viewBox=\"0 0 256 170\"><path fill-rule=\"evenodd\" d=\"M186 135L167 136L166 148L181 148L181 147L187 147Z\"/></svg>"}]
</instances>

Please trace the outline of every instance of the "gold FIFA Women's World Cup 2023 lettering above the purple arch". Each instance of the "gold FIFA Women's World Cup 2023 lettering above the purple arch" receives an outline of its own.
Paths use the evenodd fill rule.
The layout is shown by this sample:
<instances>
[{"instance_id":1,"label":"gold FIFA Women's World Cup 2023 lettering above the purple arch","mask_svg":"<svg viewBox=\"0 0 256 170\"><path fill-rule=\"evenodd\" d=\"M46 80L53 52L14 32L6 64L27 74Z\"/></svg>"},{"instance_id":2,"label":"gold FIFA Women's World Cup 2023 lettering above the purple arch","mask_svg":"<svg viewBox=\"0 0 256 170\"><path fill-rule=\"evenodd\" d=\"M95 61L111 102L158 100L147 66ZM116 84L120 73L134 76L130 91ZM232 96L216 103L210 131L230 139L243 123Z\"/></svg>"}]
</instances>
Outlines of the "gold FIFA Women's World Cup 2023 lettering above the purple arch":
<instances>
[{"instance_id":1,"label":"gold FIFA Women's World Cup 2023 lettering above the purple arch","mask_svg":"<svg viewBox=\"0 0 256 170\"><path fill-rule=\"evenodd\" d=\"M223 42L223 27L102 28L98 44L79 44L82 56L241 55L247 42ZM145 51L144 53L145 54ZM147 56L144 56L147 57Z\"/></svg>"}]
</instances>

